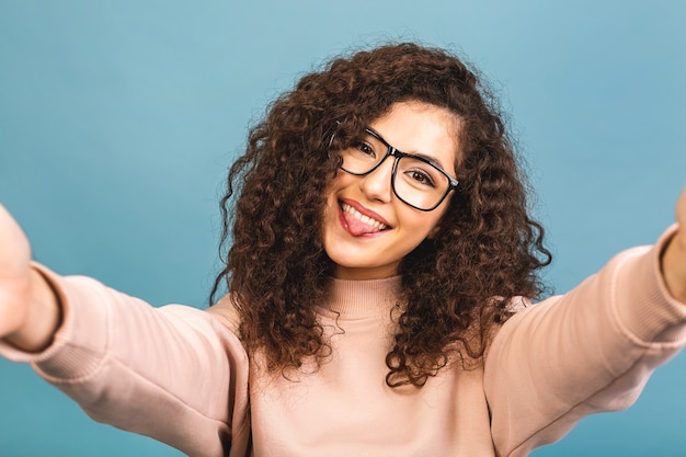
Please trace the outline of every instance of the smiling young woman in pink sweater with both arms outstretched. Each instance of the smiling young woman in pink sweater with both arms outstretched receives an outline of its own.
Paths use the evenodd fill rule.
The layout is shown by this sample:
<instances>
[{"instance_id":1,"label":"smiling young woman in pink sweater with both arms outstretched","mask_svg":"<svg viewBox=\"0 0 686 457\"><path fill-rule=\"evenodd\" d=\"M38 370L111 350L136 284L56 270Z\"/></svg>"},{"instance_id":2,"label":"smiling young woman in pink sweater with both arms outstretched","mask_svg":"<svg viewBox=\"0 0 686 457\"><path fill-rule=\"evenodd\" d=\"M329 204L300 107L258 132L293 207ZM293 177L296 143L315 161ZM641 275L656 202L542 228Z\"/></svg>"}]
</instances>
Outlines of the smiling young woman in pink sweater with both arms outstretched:
<instances>
[{"instance_id":1,"label":"smiling young woman in pink sweater with both arms outstretched","mask_svg":"<svg viewBox=\"0 0 686 457\"><path fill-rule=\"evenodd\" d=\"M231 169L207 311L32 264L1 213L2 353L191 456L524 456L628 407L686 344L686 194L530 306L550 254L489 100L414 44L304 77Z\"/></svg>"}]
</instances>

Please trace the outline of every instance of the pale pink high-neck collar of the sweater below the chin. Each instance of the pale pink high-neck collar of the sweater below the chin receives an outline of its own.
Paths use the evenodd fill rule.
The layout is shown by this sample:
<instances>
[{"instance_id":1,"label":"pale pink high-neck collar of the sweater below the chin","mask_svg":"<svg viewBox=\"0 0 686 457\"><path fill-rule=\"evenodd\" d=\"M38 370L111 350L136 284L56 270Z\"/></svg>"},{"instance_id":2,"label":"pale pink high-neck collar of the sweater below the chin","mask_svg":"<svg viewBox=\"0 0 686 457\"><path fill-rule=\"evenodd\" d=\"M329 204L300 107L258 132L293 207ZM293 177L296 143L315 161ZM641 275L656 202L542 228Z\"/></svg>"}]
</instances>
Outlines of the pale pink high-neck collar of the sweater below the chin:
<instances>
[{"instance_id":1,"label":"pale pink high-neck collar of the sweater below the chin","mask_svg":"<svg viewBox=\"0 0 686 457\"><path fill-rule=\"evenodd\" d=\"M387 315L399 302L401 276L384 279L350 281L333 278L327 309L355 319Z\"/></svg>"}]
</instances>

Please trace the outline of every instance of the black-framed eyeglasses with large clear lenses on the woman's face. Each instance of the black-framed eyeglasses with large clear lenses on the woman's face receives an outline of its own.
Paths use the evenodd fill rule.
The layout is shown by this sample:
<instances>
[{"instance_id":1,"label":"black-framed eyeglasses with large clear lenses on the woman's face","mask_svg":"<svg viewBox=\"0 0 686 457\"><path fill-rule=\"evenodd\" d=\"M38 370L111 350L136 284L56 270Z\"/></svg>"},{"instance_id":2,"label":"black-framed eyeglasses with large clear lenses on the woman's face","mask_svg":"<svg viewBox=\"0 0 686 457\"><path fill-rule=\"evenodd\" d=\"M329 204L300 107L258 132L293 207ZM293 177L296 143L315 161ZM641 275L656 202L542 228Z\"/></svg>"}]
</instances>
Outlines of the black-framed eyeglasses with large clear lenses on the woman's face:
<instances>
[{"instance_id":1,"label":"black-framed eyeglasses with large clear lenses on the woman's face","mask_svg":"<svg viewBox=\"0 0 686 457\"><path fill-rule=\"evenodd\" d=\"M393 194L404 204L422 212L436 209L450 191L457 188L457 179L438 167L431 158L403 152L388 144L371 128L340 152L341 170L364 176L379 168L387 157L395 158L391 174Z\"/></svg>"}]
</instances>

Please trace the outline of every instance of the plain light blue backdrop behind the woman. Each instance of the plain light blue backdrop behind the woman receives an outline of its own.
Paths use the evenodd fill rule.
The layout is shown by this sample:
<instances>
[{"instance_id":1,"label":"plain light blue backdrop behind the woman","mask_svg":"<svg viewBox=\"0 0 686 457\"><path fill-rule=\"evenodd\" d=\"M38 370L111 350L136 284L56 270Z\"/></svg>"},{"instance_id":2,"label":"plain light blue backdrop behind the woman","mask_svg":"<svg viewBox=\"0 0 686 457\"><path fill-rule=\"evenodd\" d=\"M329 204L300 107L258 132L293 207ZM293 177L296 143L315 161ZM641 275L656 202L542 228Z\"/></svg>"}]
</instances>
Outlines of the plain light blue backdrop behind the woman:
<instances>
[{"instance_id":1,"label":"plain light blue backdrop behind the woman","mask_svg":"<svg viewBox=\"0 0 686 457\"><path fill-rule=\"evenodd\" d=\"M564 292L673 221L686 182L686 3L0 0L0 201L35 258L203 307L222 180L304 72L386 39L449 47L498 89ZM536 456L675 456L686 358ZM0 361L0 455L176 456Z\"/></svg>"}]
</instances>

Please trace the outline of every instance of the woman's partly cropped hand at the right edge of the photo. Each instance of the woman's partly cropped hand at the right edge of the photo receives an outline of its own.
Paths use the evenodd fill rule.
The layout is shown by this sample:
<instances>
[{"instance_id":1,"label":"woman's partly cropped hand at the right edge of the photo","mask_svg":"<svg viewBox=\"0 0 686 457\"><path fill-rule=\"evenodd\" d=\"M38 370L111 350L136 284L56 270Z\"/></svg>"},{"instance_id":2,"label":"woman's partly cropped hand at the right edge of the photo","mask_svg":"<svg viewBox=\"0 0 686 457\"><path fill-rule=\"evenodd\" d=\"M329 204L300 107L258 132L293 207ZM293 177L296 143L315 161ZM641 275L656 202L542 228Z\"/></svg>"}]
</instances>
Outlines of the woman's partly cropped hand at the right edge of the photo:
<instances>
[{"instance_id":1,"label":"woman's partly cropped hand at the right edge of the photo","mask_svg":"<svg viewBox=\"0 0 686 457\"><path fill-rule=\"evenodd\" d=\"M676 204L678 230L662 254L662 274L674 298L686 304L686 187Z\"/></svg>"}]
</instances>

